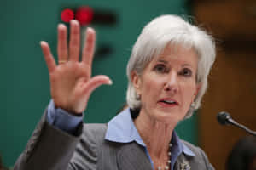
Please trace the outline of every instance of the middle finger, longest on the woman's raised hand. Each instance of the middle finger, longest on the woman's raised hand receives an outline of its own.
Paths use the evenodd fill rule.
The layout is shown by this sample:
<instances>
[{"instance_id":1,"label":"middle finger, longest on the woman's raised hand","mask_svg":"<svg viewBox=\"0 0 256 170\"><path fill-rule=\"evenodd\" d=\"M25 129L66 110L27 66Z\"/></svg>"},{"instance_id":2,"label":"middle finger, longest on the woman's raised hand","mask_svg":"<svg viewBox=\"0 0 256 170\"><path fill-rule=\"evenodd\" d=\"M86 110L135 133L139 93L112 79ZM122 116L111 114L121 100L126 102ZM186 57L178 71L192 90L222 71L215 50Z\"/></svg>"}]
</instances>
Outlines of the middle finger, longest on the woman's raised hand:
<instances>
[{"instance_id":1,"label":"middle finger, longest on the woman's raised hand","mask_svg":"<svg viewBox=\"0 0 256 170\"><path fill-rule=\"evenodd\" d=\"M70 42L69 42L69 59L71 61L79 61L80 48L80 26L77 20L70 22Z\"/></svg>"}]
</instances>

